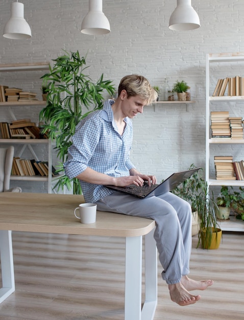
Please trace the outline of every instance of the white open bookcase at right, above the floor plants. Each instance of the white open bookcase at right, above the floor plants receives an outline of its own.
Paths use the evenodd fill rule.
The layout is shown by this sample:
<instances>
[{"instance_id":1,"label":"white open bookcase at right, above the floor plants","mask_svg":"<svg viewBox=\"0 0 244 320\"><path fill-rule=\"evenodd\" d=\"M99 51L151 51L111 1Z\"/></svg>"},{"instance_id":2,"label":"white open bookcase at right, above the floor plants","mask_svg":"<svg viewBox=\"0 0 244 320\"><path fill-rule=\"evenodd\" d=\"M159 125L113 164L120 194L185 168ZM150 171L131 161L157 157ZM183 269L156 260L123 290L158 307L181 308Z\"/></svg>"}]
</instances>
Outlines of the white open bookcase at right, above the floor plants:
<instances>
[{"instance_id":1,"label":"white open bookcase at right, above the floor plants","mask_svg":"<svg viewBox=\"0 0 244 320\"><path fill-rule=\"evenodd\" d=\"M243 117L244 96L215 96L212 94L217 80L234 76L244 77L244 54L207 54L206 56L206 181L211 186L242 186L243 180L216 180L214 155L240 156L243 139L211 139L210 115L212 110L229 111L230 117ZM227 90L227 89L226 89ZM242 150L241 150L242 149ZM230 154L230 153L233 154ZM213 154L214 153L214 154ZM217 153L217 154L216 154ZM244 152L242 152L244 158ZM221 222L224 231L244 231L243 221Z\"/></svg>"}]
</instances>

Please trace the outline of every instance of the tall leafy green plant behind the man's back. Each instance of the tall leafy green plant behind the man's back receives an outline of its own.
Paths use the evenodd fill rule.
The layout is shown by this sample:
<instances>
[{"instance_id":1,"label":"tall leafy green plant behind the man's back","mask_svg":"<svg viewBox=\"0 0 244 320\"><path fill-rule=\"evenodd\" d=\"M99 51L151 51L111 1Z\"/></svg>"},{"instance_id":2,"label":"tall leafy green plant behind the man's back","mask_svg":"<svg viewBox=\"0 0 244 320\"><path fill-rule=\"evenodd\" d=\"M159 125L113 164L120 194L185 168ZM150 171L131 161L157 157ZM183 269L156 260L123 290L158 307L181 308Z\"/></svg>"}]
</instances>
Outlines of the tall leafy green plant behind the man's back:
<instances>
[{"instance_id":1,"label":"tall leafy green plant behind the man's back","mask_svg":"<svg viewBox=\"0 0 244 320\"><path fill-rule=\"evenodd\" d=\"M95 83L85 74L86 57L80 57L79 51L66 52L54 59L50 72L43 75L43 84L48 91L46 106L40 111L40 121L44 122L44 132L55 140L58 158L61 160L57 172L63 172L63 163L67 158L71 136L76 125L90 112L103 107L104 92L114 95L114 86L110 80L104 80L103 74ZM84 112L85 109L85 112ZM60 175L54 188L72 187L74 194L81 194L79 180Z\"/></svg>"}]
</instances>

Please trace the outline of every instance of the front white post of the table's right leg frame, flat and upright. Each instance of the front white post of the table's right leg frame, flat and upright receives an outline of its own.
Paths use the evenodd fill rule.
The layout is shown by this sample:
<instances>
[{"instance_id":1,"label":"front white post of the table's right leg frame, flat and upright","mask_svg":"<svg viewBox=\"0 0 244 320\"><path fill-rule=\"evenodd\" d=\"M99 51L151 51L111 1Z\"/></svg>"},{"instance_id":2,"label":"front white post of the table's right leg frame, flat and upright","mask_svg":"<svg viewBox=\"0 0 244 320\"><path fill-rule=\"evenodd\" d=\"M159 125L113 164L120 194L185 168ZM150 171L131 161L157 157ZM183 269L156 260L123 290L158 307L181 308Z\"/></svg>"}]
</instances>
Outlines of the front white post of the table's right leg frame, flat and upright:
<instances>
[{"instance_id":1,"label":"front white post of the table's right leg frame, flat and upright","mask_svg":"<svg viewBox=\"0 0 244 320\"><path fill-rule=\"evenodd\" d=\"M142 236L126 238L125 320L141 320Z\"/></svg>"}]
</instances>

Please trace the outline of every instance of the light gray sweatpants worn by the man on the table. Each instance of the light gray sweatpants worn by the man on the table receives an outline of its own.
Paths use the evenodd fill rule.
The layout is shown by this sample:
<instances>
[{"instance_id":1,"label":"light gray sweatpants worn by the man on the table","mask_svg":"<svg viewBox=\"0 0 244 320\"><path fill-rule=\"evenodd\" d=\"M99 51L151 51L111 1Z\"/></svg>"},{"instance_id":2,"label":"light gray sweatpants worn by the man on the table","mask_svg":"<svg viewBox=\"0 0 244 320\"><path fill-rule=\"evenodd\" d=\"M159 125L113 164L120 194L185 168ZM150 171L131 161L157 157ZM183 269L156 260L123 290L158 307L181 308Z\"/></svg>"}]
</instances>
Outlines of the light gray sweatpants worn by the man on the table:
<instances>
[{"instance_id":1,"label":"light gray sweatpants worn by the man on the table","mask_svg":"<svg viewBox=\"0 0 244 320\"><path fill-rule=\"evenodd\" d=\"M96 204L97 210L155 220L154 239L163 267L163 280L175 284L188 275L191 253L191 207L188 202L171 192L145 199L115 192Z\"/></svg>"}]
</instances>

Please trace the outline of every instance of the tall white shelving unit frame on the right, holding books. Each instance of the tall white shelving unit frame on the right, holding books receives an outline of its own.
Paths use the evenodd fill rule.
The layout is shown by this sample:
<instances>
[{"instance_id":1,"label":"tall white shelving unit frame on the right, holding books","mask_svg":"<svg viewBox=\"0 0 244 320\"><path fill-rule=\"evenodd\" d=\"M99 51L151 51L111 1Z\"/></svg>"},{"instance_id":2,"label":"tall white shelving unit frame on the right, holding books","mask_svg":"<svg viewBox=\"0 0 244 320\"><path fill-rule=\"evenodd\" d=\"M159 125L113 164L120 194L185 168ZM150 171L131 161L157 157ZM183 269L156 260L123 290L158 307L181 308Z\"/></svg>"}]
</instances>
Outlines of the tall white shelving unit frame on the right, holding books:
<instances>
[{"instance_id":1,"label":"tall white shelving unit frame on the right, holding books","mask_svg":"<svg viewBox=\"0 0 244 320\"><path fill-rule=\"evenodd\" d=\"M209 173L209 165L210 165L210 147L211 145L218 145L223 150L223 155L225 154L225 146L226 145L242 145L244 144L244 140L231 140L231 139L211 139L210 136L210 111L212 107L212 103L219 104L219 110L222 109L223 102L227 105L229 103L235 104L235 102L244 102L244 96L222 96L222 97L212 97L210 96L210 79L211 79L211 66L219 66L223 67L225 65L229 65L231 63L244 62L244 54L240 53L231 53L231 54L207 54L206 56L206 181L208 182L209 187L211 186L241 186L244 187L243 180L216 180L214 177L210 176ZM243 66L244 64L242 64ZM239 67L240 70L240 67ZM238 75L239 70L236 71L236 75ZM227 77L228 75L226 75ZM243 74L244 76L244 74ZM227 106L228 107L228 106ZM227 108L226 107L226 108ZM229 105L230 107L230 105ZM243 109L244 110L244 109ZM241 115L239 115L241 116ZM243 149L244 150L244 149ZM223 221L220 223L223 231L238 231L244 232L244 222L238 221L235 218L231 218L230 220Z\"/></svg>"}]
</instances>

